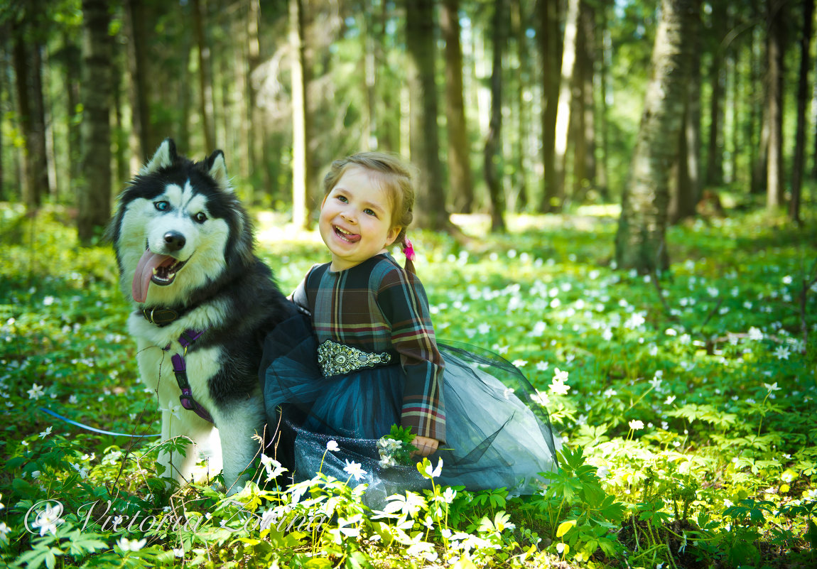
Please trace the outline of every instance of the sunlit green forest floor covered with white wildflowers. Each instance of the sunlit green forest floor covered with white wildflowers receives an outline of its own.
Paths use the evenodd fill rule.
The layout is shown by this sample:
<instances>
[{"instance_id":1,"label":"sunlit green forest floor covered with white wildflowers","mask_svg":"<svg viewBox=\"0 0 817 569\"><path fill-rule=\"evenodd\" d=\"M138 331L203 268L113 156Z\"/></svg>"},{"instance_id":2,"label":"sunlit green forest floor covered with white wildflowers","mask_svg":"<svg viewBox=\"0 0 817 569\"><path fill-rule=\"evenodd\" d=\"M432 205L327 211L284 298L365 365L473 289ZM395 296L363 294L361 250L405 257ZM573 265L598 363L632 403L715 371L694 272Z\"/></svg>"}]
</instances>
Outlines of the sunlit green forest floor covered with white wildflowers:
<instances>
[{"instance_id":1,"label":"sunlit green forest floor covered with white wildflowers","mask_svg":"<svg viewBox=\"0 0 817 569\"><path fill-rule=\"evenodd\" d=\"M817 562L817 287L799 305L813 232L758 212L672 228L660 286L610 266L615 218L598 208L514 217L498 236L479 216L458 218L467 243L413 232L438 336L516 362L547 399L565 460L542 496L438 487L378 518L353 481L320 476L251 485L234 500L202 486L170 496L155 443L39 411L120 433L159 428L113 251L78 247L65 211L23 213L0 205L0 559L10 567ZM270 214L259 216L259 253L284 291L327 259L315 234ZM565 394L551 389L556 368ZM65 520L43 536L25 528L41 500L60 500Z\"/></svg>"}]
</instances>

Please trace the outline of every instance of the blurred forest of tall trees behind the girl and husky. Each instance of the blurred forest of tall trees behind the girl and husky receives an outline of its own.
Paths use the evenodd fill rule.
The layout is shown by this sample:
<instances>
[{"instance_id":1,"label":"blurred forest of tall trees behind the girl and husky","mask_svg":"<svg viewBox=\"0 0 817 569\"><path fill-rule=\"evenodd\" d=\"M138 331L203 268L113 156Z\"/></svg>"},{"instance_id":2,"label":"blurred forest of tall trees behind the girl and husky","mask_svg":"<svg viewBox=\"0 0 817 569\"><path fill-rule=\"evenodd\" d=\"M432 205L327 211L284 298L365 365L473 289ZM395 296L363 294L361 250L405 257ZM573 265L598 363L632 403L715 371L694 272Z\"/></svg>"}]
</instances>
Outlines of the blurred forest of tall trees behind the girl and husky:
<instances>
[{"instance_id":1,"label":"blurred forest of tall trees behind the girl and husky","mask_svg":"<svg viewBox=\"0 0 817 569\"><path fill-rule=\"evenodd\" d=\"M411 159L431 229L451 213L501 230L509 212L622 204L655 35L678 7L695 24L669 70L680 99L653 103L680 125L657 139L666 181L645 181L657 219L723 199L803 219L814 0L676 4L0 0L0 200L74 208L92 242L171 136L192 157L223 149L245 202L302 226L330 162L361 149Z\"/></svg>"}]
</instances>

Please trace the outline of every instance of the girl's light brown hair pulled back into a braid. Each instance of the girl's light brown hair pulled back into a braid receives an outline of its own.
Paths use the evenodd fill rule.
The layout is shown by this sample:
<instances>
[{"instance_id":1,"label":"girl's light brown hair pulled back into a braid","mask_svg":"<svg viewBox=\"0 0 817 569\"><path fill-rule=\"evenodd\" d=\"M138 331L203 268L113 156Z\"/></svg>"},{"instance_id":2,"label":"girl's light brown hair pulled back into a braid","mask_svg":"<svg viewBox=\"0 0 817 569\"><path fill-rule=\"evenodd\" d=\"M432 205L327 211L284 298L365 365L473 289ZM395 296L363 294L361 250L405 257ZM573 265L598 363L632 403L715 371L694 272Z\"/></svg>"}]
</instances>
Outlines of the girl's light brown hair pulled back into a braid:
<instances>
[{"instance_id":1,"label":"girl's light brown hair pulled back into a braid","mask_svg":"<svg viewBox=\"0 0 817 569\"><path fill-rule=\"evenodd\" d=\"M391 202L391 227L400 227L400 233L395 238L395 244L405 247L406 229L414 219L414 184L411 168L399 156L383 152L360 152L335 160L328 174L324 177L324 195L337 184L351 166L359 166L377 176L382 189ZM406 261L406 268L413 264Z\"/></svg>"}]
</instances>

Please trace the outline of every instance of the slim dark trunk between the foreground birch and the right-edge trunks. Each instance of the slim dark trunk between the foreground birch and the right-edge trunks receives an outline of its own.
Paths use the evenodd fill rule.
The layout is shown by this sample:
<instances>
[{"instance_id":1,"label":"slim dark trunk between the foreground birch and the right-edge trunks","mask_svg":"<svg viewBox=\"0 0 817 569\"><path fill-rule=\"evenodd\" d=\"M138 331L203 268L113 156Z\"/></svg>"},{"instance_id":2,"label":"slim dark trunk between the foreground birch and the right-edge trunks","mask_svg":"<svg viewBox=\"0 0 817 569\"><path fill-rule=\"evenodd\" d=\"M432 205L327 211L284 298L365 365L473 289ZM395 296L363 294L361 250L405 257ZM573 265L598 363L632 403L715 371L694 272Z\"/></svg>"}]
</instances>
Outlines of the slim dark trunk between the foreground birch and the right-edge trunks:
<instances>
[{"instance_id":1,"label":"slim dark trunk between the foreground birch and the right-edge trunks","mask_svg":"<svg viewBox=\"0 0 817 569\"><path fill-rule=\"evenodd\" d=\"M712 99L709 104L709 143L707 151L707 185L723 184L723 96L724 51L723 38L726 29L726 2L712 3L712 33L716 42L712 51L712 67L709 81Z\"/></svg>"}]
</instances>

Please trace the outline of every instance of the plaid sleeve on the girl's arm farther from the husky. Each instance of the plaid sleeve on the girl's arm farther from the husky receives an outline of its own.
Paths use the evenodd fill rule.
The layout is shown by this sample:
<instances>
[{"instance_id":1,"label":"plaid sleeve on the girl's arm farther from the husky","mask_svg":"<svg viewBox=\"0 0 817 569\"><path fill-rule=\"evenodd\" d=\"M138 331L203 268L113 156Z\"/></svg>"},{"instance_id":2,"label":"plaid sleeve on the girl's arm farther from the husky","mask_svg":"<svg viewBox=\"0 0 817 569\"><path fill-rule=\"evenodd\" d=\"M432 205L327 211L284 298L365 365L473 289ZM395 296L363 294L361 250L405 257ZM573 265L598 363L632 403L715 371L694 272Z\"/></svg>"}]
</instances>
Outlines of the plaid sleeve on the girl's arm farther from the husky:
<instances>
[{"instance_id":1,"label":"plaid sleeve on the girl's arm farther from the husky","mask_svg":"<svg viewBox=\"0 0 817 569\"><path fill-rule=\"evenodd\" d=\"M395 267L382 279L377 304L391 324L391 343L405 372L400 422L421 437L445 442L444 362L422 282Z\"/></svg>"}]
</instances>

